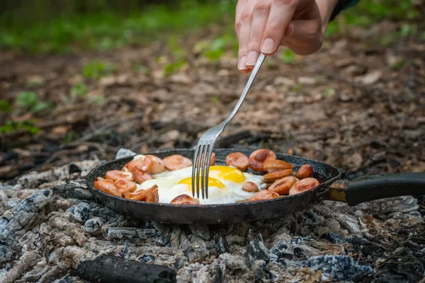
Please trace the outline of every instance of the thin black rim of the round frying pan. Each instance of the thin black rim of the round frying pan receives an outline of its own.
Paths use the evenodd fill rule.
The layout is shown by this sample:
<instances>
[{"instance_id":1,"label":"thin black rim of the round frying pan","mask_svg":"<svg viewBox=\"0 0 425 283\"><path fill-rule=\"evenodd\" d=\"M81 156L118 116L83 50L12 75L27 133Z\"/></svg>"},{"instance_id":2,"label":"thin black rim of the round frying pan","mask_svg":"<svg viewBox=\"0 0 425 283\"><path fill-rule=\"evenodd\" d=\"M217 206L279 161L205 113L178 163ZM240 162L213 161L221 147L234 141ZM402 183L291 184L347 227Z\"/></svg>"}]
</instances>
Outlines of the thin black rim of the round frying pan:
<instances>
[{"instance_id":1,"label":"thin black rim of the round frying pan","mask_svg":"<svg viewBox=\"0 0 425 283\"><path fill-rule=\"evenodd\" d=\"M254 151L255 149L251 150L251 149L217 148L217 149L213 149L212 152L220 151L220 150L233 151L233 152L239 151L240 152L240 151ZM164 153L164 151L175 151L175 152L184 151L184 152L187 152L187 151L194 151L194 149L163 149L163 150L158 150L158 151L150 151L149 153L144 154L144 155L161 154L161 153ZM132 158L132 157L137 156L137 155L139 155L139 154L114 159L112 161L108 161L106 163L102 163L102 164L96 166L95 168L91 169L91 171L89 171L89 173L87 173L87 175L84 177L84 180L86 181L86 185L89 187L90 190L93 190L93 191L96 190L96 192L101 193L102 195L105 195L106 197L112 197L113 199L118 200L118 201L125 200L125 202L132 202L132 203L135 203L135 204L144 204L144 205L152 205L152 206L160 206L160 207L173 207L173 208L181 207L181 208L186 208L186 209L188 209L188 208L208 209L208 208L215 208L215 207L230 207L230 206L234 206L234 205L241 206L241 205L252 205L252 204L265 204L265 203L268 203L268 202L277 202L279 200L295 199L297 197L301 197L302 195L310 194L310 193L312 193L316 190L321 190L323 187L329 187L329 185L331 185L331 183L334 183L336 180L339 180L341 178L341 169L340 168L337 168L335 166L331 166L330 164L323 163L323 162L320 162L320 161L317 161L317 160L314 160L314 159L311 159L311 158L305 158L305 157L302 157L302 156L295 156L295 155L290 155L290 154L281 154L281 153L276 152L276 155L278 155L278 156L293 156L293 157L296 157L296 158L302 158L305 161L312 161L313 163L319 163L322 166L330 166L332 168L335 168L338 171L338 175L334 176L333 178L330 178L329 180L326 180L324 183L320 183L320 185L318 185L317 187L314 187L313 190L307 190L305 192L300 192L296 195L280 196L276 199L260 200L260 201L256 201L256 202L231 202L231 203L225 203L225 204L167 204L167 203L162 203L162 202L140 202L140 201L137 201L137 200L130 200L130 199L125 199L123 197L116 197L114 195L108 195L106 192L103 192L101 190L97 190L96 188L94 188L94 185L91 185L91 180L89 180L89 179L90 179L91 175L96 170L98 170L98 168L101 168L103 166L107 166L108 164L111 164L111 163L118 163L119 161L123 161L125 159ZM120 168L118 168L116 170L119 170L119 169ZM99 177L99 176L97 176L97 177Z\"/></svg>"}]
</instances>

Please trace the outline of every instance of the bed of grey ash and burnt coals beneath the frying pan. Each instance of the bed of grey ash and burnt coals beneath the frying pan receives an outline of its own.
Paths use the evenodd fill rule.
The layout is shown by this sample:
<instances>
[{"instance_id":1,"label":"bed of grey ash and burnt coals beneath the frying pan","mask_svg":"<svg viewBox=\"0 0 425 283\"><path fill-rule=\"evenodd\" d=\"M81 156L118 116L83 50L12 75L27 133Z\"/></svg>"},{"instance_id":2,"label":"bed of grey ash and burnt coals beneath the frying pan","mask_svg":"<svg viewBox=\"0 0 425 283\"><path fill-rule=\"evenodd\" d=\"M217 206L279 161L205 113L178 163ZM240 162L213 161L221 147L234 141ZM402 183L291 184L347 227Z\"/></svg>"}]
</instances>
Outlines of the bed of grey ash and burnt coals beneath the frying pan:
<instances>
[{"instance_id":1,"label":"bed of grey ash and burnt coals beneath the frying pan","mask_svg":"<svg viewBox=\"0 0 425 283\"><path fill-rule=\"evenodd\" d=\"M94 201L83 177L99 163L72 163L25 175L16 185L0 183L0 282L95 281L78 277L79 267L102 256L169 267L169 279L161 282L424 277L425 226L414 197L356 207L323 202L281 219L232 225L141 222Z\"/></svg>"}]
</instances>

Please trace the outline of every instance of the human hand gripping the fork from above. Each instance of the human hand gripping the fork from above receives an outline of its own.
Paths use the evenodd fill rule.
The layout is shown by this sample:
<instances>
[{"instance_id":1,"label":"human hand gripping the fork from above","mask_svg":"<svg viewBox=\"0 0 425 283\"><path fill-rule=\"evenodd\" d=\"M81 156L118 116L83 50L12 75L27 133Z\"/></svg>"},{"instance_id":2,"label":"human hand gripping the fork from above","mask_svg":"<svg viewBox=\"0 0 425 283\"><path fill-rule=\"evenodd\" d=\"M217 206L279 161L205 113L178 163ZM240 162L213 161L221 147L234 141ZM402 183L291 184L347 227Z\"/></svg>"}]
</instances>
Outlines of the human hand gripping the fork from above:
<instances>
[{"instance_id":1,"label":"human hand gripping the fork from above","mask_svg":"<svg viewBox=\"0 0 425 283\"><path fill-rule=\"evenodd\" d=\"M321 1L321 10L327 13L336 4L335 0ZM322 47L322 25L327 23L322 18L327 16L321 16L314 0L239 0L234 23L239 71L249 73L260 52L272 55L280 45L299 55L316 52Z\"/></svg>"}]
</instances>

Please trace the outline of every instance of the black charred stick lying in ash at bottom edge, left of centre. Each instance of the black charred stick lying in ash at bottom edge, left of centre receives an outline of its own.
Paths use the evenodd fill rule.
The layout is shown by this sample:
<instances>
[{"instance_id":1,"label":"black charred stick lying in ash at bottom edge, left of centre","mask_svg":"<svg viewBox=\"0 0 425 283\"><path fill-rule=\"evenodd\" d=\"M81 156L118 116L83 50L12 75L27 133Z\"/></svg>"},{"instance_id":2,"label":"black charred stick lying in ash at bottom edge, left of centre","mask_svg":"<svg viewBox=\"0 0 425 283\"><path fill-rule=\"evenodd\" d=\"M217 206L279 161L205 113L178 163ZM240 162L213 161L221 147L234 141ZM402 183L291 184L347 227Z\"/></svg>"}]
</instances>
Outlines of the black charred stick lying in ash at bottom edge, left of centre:
<instances>
[{"instance_id":1,"label":"black charred stick lying in ash at bottom edge, left of centre","mask_svg":"<svg viewBox=\"0 0 425 283\"><path fill-rule=\"evenodd\" d=\"M113 255L101 255L94 260L81 260L77 270L72 273L90 282L176 282L176 272L169 267L125 260Z\"/></svg>"}]
</instances>

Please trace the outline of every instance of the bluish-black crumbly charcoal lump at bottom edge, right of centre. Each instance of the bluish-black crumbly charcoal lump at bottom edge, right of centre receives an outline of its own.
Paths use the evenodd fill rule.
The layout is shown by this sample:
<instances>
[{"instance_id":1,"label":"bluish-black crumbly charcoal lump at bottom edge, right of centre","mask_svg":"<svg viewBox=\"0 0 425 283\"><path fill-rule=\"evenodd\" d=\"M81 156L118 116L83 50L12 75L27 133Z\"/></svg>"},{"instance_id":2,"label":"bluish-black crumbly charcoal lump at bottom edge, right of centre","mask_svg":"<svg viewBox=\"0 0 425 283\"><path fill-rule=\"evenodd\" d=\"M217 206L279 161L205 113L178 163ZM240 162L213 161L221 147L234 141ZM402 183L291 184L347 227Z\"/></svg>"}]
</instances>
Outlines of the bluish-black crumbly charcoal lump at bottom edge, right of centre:
<instances>
[{"instance_id":1,"label":"bluish-black crumbly charcoal lump at bottom edge, right of centre","mask_svg":"<svg viewBox=\"0 0 425 283\"><path fill-rule=\"evenodd\" d=\"M337 280L353 280L354 277L363 277L375 272L372 267L358 265L356 260L348 255L320 255L305 262L306 267L312 270L322 270L325 277Z\"/></svg>"}]
</instances>

